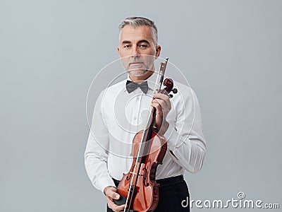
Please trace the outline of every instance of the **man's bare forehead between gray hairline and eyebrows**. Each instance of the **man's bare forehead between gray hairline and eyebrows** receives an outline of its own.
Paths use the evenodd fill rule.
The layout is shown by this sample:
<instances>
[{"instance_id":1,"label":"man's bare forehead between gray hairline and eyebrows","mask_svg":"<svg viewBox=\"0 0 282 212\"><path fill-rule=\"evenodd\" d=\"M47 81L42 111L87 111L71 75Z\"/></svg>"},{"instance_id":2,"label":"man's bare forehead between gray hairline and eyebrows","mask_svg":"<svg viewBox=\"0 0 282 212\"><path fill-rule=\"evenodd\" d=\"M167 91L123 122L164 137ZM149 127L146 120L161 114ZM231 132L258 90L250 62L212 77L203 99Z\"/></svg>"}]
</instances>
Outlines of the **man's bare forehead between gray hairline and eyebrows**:
<instances>
[{"instance_id":1,"label":"man's bare forehead between gray hairline and eyebrows","mask_svg":"<svg viewBox=\"0 0 282 212\"><path fill-rule=\"evenodd\" d=\"M138 40L148 40L153 42L152 29L147 25L125 25L121 29L120 42L123 42L124 40L130 42L138 42Z\"/></svg>"}]
</instances>

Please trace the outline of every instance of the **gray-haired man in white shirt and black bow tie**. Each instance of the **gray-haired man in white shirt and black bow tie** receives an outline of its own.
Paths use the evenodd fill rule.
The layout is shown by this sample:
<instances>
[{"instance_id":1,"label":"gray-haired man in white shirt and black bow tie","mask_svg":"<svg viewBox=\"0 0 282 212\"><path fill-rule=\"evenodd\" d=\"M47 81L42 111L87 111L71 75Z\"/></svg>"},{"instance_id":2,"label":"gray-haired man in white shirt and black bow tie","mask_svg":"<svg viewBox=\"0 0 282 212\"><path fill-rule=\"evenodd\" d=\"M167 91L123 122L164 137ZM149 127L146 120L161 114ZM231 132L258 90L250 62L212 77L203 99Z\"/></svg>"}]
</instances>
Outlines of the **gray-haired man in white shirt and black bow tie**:
<instances>
[{"instance_id":1,"label":"gray-haired man in white shirt and black bow tie","mask_svg":"<svg viewBox=\"0 0 282 212\"><path fill-rule=\"evenodd\" d=\"M155 127L168 146L163 164L157 167L159 203L154 211L190 211L189 206L181 204L189 199L183 173L202 168L206 146L197 96L191 88L177 82L178 93L173 98L154 93L154 59L159 57L161 47L157 45L157 27L152 20L130 17L119 28L118 55L128 80L99 95L85 150L87 174L94 187L106 196L108 211L123 211L125 205L114 203L120 198L116 187L130 169L130 144L146 126L144 113L146 105L151 105L157 109ZM134 83L139 87L132 88Z\"/></svg>"}]
</instances>

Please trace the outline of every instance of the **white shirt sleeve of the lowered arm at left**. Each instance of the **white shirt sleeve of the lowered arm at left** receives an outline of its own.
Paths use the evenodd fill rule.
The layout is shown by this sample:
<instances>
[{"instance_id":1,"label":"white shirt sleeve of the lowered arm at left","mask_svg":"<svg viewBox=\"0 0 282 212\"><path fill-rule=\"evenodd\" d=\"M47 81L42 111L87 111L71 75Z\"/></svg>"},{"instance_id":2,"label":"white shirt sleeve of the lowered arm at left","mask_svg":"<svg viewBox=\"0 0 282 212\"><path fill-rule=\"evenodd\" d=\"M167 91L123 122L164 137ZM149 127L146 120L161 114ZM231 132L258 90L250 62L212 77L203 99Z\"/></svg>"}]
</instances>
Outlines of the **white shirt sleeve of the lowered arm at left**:
<instances>
[{"instance_id":1,"label":"white shirt sleeve of the lowered arm at left","mask_svg":"<svg viewBox=\"0 0 282 212\"><path fill-rule=\"evenodd\" d=\"M102 93L94 107L90 134L85 149L85 169L90 181L100 191L115 187L108 172L109 134L102 116Z\"/></svg>"}]
</instances>

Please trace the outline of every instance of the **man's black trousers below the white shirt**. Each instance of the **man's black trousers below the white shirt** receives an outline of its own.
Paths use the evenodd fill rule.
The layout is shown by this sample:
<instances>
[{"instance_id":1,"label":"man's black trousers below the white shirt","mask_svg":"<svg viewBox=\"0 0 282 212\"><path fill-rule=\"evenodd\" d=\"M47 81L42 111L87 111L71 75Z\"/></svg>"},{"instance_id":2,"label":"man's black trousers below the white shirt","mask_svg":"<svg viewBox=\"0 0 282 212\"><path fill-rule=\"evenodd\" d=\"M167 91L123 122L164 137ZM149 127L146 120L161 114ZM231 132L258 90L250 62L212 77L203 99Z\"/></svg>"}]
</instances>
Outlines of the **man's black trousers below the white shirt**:
<instances>
[{"instance_id":1,"label":"man's black trousers below the white shirt","mask_svg":"<svg viewBox=\"0 0 282 212\"><path fill-rule=\"evenodd\" d=\"M154 212L190 212L190 195L183 175L156 181L160 184L159 203ZM114 182L118 187L118 180ZM112 211L107 207L107 212Z\"/></svg>"}]
</instances>

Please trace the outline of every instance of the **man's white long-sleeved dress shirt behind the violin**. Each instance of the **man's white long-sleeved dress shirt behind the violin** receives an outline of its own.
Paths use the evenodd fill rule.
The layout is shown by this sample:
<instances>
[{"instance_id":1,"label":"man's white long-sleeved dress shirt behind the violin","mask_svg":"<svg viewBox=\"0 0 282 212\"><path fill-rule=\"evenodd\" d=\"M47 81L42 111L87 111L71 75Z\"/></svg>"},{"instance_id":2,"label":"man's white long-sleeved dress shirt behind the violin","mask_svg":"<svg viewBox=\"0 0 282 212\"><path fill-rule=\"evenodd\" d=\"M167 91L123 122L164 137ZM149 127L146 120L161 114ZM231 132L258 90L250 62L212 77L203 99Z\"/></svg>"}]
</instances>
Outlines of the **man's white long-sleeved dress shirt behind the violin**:
<instances>
[{"instance_id":1,"label":"man's white long-sleeved dress shirt behind the violin","mask_svg":"<svg viewBox=\"0 0 282 212\"><path fill-rule=\"evenodd\" d=\"M104 191L115 186L133 163L132 142L135 134L145 129L151 110L155 85L154 73L147 81L147 94L137 88L128 93L126 80L100 93L94 107L90 134L85 149L85 168L94 187ZM183 175L184 170L198 172L204 160L206 143L202 132L200 106L192 88L174 82L171 111L164 134L167 151L163 164L157 167L156 179Z\"/></svg>"}]
</instances>

